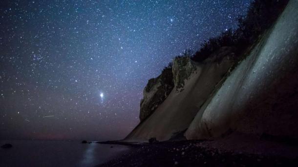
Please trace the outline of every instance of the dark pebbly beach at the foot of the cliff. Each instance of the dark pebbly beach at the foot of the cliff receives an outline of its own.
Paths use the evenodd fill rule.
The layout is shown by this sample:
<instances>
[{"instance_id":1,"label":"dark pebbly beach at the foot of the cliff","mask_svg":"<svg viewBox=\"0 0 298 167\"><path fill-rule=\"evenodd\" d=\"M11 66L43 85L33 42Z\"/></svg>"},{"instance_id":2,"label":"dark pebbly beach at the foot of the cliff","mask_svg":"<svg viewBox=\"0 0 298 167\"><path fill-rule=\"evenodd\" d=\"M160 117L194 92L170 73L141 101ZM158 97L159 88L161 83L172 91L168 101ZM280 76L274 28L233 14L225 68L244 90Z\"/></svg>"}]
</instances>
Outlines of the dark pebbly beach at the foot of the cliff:
<instances>
[{"instance_id":1,"label":"dark pebbly beach at the foot of the cliff","mask_svg":"<svg viewBox=\"0 0 298 167\"><path fill-rule=\"evenodd\" d=\"M183 141L143 144L99 167L298 167L298 158L223 152L202 148L200 143Z\"/></svg>"}]
</instances>

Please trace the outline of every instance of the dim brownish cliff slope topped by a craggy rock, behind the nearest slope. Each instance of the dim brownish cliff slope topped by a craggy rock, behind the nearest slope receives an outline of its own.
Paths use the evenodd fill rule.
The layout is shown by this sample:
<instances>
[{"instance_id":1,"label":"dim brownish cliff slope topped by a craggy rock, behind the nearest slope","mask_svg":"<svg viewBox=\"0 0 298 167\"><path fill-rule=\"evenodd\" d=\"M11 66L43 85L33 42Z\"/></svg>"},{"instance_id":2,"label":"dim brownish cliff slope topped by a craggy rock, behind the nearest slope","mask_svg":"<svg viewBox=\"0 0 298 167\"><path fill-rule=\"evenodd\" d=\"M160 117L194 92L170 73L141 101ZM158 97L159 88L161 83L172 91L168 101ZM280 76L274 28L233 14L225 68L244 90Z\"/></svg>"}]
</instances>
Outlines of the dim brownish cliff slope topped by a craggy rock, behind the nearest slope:
<instances>
[{"instance_id":1,"label":"dim brownish cliff slope topped by a craggy rock, behind the nearest slope","mask_svg":"<svg viewBox=\"0 0 298 167\"><path fill-rule=\"evenodd\" d=\"M182 61L174 60L175 86L183 83L183 87L179 91L174 88L163 103L128 134L125 141L148 141L151 137L165 141L186 130L216 84L233 66L234 60L227 55L219 62L193 63L188 57L182 57ZM184 66L177 69L179 64Z\"/></svg>"}]
</instances>

